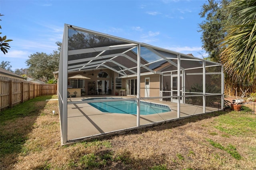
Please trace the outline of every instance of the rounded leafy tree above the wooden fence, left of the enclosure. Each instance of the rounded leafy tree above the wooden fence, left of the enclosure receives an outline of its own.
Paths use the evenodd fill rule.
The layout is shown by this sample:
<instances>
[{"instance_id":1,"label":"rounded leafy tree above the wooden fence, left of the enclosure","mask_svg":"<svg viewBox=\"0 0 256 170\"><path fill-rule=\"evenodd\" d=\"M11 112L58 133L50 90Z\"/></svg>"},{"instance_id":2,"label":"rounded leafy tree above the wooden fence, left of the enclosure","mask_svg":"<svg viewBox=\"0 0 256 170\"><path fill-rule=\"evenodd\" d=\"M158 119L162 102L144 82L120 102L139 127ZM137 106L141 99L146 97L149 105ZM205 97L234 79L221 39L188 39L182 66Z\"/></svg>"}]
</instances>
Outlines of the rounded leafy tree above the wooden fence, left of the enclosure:
<instances>
[{"instance_id":1,"label":"rounded leafy tree above the wooden fence, left of the enclosure","mask_svg":"<svg viewBox=\"0 0 256 170\"><path fill-rule=\"evenodd\" d=\"M61 47L60 42L56 44ZM58 48L60 50L60 48ZM43 79L48 81L54 78L53 72L58 70L60 60L60 51L53 51L53 53L34 53L26 60L28 71L35 79Z\"/></svg>"}]
</instances>

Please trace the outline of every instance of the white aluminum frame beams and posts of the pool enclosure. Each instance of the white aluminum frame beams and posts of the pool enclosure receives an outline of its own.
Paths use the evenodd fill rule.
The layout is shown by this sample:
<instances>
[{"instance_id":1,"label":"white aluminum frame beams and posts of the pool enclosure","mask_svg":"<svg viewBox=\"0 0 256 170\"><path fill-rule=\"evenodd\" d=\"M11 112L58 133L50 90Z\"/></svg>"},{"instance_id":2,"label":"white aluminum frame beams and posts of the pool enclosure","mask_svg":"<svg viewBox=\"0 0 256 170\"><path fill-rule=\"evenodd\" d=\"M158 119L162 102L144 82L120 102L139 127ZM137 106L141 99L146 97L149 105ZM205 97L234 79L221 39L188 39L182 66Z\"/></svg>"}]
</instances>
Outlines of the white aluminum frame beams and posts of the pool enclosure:
<instances>
[{"instance_id":1,"label":"white aluminum frame beams and posts of the pool enclosure","mask_svg":"<svg viewBox=\"0 0 256 170\"><path fill-rule=\"evenodd\" d=\"M85 32L91 35L95 36L101 36L103 38L109 38L111 40L115 40L119 44L113 45L105 45L105 46L100 46L100 47L90 47L90 48L84 48L84 49L69 49L69 36L70 33L69 31L73 32ZM120 43L121 42L121 43ZM123 42L123 43L122 43ZM167 61L170 65L173 65L177 71L177 77L181 76L181 71L182 74L185 75L192 75L193 73L186 73L188 70L196 70L196 69L202 69L202 93L191 93L190 95L186 95L185 93L189 93L185 91L184 87L184 93L180 95L180 93L177 93L177 96L155 96L155 97L141 97L140 94L140 79L142 75L155 75L159 74L160 77L162 76L163 79L163 73L171 73L172 71L154 71L151 69L149 66L150 64L156 63L156 61L148 62L145 59L142 58L141 56L141 51L142 48L148 49L151 51L153 54L158 55L160 57L159 61ZM137 49L137 51L134 51ZM112 54L106 54L109 51L114 51L114 50L123 50L119 53L112 53ZM127 53L134 53L137 56L137 59L133 59ZM97 55L94 55L93 57L88 57L88 58L77 58L75 59L76 56L82 56L83 54L92 54L96 53ZM72 56L74 56L72 59L70 59ZM125 63L122 62L117 62L114 61L116 57L122 56L127 59L129 59L134 65L134 67L128 67L125 65ZM100 58L101 57L101 58ZM189 68L184 68L182 67L182 61L198 61L202 62L202 66L195 66L195 67L189 67ZM116 69L116 67L112 67L111 65L108 65L107 63L111 63L111 65L119 65L119 68L122 68L120 70ZM206 73L206 68L208 67L221 67L220 72L212 72L212 73ZM110 36L108 34L103 34L100 32L95 32L92 30L87 30L84 28L72 26L69 24L64 24L64 34L63 34L63 41L62 41L62 49L61 49L61 54L60 54L60 64L59 64L59 71L58 71L58 103L59 103L59 111L60 111L60 127L61 127L61 139L62 139L62 144L68 144L71 142L75 141L81 141L81 138L79 139L74 139L74 140L68 140L68 105L69 104L78 104L78 103L88 103L88 101L72 101L68 102L68 97L67 97L67 86L68 86L68 74L69 73L75 73L79 71L88 71L88 70L95 70L95 69L110 69L116 73L119 73L121 78L125 77L136 77L137 79L137 96L136 97L131 97L131 99L113 99L117 101L122 101L122 100L136 100L138 101L137 103L137 122L136 122L136 127L131 127L129 129L133 128L140 128L145 125L140 124L140 100L141 99L167 99L167 98L172 98L176 97L177 99L179 98L185 98L185 97L197 97L197 96L202 96L203 98L203 113L206 113L206 97L212 96L212 95L220 95L221 96L221 109L224 107L224 74L223 74L223 65L220 63L215 63L212 61L206 61L204 59L192 57L190 55L182 54L179 52L171 51L168 49L163 49L160 47L155 47L153 45L149 45L146 43L140 43L140 42L135 42L132 40L127 40L124 38L119 38L116 36ZM138 69L140 68L140 69ZM142 73L142 69L144 72ZM174 70L175 71L175 70ZM196 73L200 74L200 73ZM207 93L206 91L206 75L209 74L215 74L215 75L221 75L221 93ZM177 79L177 91L181 91L183 89L180 89L181 82L180 78ZM163 91L163 85L160 87L160 91ZM110 100L111 101L111 100ZM93 102L93 101L92 101ZM177 102L177 119L180 118L180 100ZM128 130L129 130L128 129ZM124 129L120 129L124 130ZM127 130L127 129L126 129ZM116 131L118 132L118 130ZM92 137L92 136L90 136ZM96 135L97 137L97 135ZM86 140L86 137L84 138ZM83 138L82 138L83 140Z\"/></svg>"}]
</instances>

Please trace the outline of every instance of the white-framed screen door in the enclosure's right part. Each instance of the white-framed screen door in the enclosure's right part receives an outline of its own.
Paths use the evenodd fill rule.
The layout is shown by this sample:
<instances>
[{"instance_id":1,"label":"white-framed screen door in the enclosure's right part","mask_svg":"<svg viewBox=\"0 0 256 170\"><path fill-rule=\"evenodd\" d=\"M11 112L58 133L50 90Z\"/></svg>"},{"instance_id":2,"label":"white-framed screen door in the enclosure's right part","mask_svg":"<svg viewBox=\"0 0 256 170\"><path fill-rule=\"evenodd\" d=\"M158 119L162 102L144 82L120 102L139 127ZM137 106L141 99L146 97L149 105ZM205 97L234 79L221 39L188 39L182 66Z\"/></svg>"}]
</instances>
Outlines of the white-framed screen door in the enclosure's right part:
<instances>
[{"instance_id":1,"label":"white-framed screen door in the enclosure's right part","mask_svg":"<svg viewBox=\"0 0 256 170\"><path fill-rule=\"evenodd\" d=\"M172 75L172 81L171 81L171 95L172 96L177 96L178 95L178 75ZM183 78L182 75L180 75L180 95L182 95L183 91ZM172 102L177 103L178 98L172 98ZM180 103L183 103L182 97L180 97Z\"/></svg>"}]
</instances>

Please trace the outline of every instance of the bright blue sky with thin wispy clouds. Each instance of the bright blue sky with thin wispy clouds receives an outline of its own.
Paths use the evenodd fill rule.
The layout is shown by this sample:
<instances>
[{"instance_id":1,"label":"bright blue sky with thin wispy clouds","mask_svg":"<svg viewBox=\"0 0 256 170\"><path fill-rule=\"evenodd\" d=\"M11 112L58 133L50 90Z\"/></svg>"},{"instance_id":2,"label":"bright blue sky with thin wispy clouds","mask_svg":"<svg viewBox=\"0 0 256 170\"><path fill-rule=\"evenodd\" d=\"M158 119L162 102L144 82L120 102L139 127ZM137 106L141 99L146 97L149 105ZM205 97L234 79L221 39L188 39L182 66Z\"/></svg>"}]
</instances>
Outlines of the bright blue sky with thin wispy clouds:
<instances>
[{"instance_id":1,"label":"bright blue sky with thin wispy clouds","mask_svg":"<svg viewBox=\"0 0 256 170\"><path fill-rule=\"evenodd\" d=\"M70 24L158 47L205 55L198 15L205 0L0 0L0 25L11 48L0 61L26 68L33 53L52 53Z\"/></svg>"}]
</instances>

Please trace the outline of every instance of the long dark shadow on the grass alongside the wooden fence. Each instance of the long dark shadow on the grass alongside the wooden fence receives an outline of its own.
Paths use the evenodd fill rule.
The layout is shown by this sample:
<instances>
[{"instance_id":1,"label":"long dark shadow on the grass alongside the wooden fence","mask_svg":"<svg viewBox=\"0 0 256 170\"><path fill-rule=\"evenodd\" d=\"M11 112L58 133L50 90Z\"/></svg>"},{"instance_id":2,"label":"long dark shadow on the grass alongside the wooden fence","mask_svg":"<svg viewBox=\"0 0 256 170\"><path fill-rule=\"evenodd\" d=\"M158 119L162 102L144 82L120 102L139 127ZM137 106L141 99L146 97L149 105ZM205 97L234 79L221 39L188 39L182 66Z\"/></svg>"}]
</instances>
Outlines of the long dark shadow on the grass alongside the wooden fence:
<instances>
[{"instance_id":1,"label":"long dark shadow on the grass alongside the wooden fence","mask_svg":"<svg viewBox=\"0 0 256 170\"><path fill-rule=\"evenodd\" d=\"M12 169L19 153L26 152L23 144L33 125L47 104L46 99L56 95L40 96L0 112L0 166Z\"/></svg>"}]
</instances>

